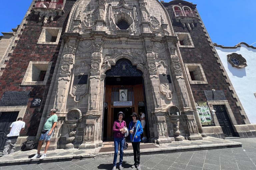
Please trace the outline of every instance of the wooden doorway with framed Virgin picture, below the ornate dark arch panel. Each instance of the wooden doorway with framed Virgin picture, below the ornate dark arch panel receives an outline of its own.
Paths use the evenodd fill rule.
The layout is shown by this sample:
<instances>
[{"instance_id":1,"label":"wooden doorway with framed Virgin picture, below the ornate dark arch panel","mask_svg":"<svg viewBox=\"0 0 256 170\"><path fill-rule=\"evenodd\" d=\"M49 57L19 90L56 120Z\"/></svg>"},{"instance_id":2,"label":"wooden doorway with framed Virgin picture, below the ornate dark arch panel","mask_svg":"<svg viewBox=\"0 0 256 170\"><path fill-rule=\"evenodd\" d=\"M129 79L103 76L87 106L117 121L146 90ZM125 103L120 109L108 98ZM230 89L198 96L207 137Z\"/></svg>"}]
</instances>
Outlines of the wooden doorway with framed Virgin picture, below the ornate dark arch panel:
<instances>
[{"instance_id":1,"label":"wooden doorway with framed Virgin picture, below the ornate dark arch panel","mask_svg":"<svg viewBox=\"0 0 256 170\"><path fill-rule=\"evenodd\" d=\"M125 92L125 94L122 91ZM126 102L127 101L127 102ZM116 102L120 102L115 106ZM122 104L123 103L123 104ZM106 85L103 138L113 139L113 123L117 120L117 114L123 112L123 119L127 126L132 120L133 112L139 116L139 111L145 112L143 84L138 85Z\"/></svg>"}]
</instances>

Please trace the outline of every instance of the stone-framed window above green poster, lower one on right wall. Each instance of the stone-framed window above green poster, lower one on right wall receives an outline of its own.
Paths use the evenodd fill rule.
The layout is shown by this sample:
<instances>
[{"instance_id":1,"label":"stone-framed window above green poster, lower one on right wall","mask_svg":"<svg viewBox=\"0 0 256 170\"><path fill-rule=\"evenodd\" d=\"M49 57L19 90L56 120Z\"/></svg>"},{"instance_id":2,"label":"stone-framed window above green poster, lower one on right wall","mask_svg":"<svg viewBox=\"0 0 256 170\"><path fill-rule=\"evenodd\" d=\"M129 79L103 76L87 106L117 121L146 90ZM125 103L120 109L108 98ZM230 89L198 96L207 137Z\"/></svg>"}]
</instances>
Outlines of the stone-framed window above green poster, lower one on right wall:
<instances>
[{"instance_id":1,"label":"stone-framed window above green poster, lower one on right wall","mask_svg":"<svg viewBox=\"0 0 256 170\"><path fill-rule=\"evenodd\" d=\"M201 64L185 63L190 84L208 84Z\"/></svg>"}]
</instances>

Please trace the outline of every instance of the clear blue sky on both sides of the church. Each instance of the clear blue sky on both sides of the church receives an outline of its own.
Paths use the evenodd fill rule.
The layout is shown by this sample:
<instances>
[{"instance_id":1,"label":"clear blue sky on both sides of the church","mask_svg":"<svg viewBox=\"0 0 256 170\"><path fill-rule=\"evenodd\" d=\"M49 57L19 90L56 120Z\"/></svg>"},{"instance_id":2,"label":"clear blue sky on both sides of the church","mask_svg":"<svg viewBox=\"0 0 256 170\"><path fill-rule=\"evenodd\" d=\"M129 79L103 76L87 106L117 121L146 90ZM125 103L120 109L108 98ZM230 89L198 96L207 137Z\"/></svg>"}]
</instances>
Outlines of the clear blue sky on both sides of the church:
<instances>
[{"instance_id":1,"label":"clear blue sky on both sides of the church","mask_svg":"<svg viewBox=\"0 0 256 170\"><path fill-rule=\"evenodd\" d=\"M220 45L256 42L256 0L189 0L197 9L212 39ZM11 32L25 16L32 0L1 0L0 32ZM165 1L169 2L169 1ZM2 34L0 34L2 35ZM256 43L253 44L256 46Z\"/></svg>"}]
</instances>

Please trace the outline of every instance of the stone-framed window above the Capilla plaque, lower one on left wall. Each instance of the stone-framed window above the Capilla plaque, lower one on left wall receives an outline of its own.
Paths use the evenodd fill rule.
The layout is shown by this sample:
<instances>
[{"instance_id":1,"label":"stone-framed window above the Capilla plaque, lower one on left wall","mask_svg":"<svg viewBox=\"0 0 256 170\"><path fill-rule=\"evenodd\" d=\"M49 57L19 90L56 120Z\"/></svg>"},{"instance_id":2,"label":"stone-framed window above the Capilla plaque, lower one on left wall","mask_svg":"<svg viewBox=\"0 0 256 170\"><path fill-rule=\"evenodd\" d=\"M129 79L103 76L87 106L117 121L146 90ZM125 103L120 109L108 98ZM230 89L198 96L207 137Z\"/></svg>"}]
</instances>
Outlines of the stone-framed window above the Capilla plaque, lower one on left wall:
<instances>
[{"instance_id":1,"label":"stone-framed window above the Capilla plaque, lower one on left wall","mask_svg":"<svg viewBox=\"0 0 256 170\"><path fill-rule=\"evenodd\" d=\"M45 85L52 61L30 61L21 85Z\"/></svg>"}]
</instances>

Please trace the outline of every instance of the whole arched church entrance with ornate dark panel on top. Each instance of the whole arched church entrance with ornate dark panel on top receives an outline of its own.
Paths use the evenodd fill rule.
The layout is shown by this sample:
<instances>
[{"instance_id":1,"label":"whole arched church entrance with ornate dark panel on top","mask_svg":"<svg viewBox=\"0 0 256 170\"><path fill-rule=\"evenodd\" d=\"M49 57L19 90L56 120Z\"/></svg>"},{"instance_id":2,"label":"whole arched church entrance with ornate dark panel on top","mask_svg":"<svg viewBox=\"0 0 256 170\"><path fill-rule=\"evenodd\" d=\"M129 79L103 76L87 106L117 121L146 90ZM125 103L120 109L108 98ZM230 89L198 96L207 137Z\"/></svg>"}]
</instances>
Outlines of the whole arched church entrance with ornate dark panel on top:
<instances>
[{"instance_id":1,"label":"whole arched church entrance with ornate dark panel on top","mask_svg":"<svg viewBox=\"0 0 256 170\"><path fill-rule=\"evenodd\" d=\"M110 141L113 140L113 122L117 120L118 112L125 114L124 121L127 126L133 112L139 116L139 112L142 111L146 114L146 122L148 119L142 71L133 66L130 60L122 58L105 74L103 141Z\"/></svg>"}]
</instances>

